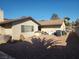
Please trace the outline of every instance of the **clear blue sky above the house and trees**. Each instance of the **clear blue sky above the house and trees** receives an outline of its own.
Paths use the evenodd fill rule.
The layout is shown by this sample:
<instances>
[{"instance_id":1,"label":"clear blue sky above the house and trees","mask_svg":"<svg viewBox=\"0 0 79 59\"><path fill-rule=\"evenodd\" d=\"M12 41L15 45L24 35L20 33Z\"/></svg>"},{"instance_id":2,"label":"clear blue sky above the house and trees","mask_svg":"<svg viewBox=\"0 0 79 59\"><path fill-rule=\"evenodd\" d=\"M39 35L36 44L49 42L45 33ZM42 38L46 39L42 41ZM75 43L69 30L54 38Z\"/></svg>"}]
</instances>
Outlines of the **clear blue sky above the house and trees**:
<instances>
[{"instance_id":1,"label":"clear blue sky above the house and trees","mask_svg":"<svg viewBox=\"0 0 79 59\"><path fill-rule=\"evenodd\" d=\"M72 21L79 17L79 0L0 0L4 17L9 19L31 16L35 20L48 20L53 13Z\"/></svg>"}]
</instances>

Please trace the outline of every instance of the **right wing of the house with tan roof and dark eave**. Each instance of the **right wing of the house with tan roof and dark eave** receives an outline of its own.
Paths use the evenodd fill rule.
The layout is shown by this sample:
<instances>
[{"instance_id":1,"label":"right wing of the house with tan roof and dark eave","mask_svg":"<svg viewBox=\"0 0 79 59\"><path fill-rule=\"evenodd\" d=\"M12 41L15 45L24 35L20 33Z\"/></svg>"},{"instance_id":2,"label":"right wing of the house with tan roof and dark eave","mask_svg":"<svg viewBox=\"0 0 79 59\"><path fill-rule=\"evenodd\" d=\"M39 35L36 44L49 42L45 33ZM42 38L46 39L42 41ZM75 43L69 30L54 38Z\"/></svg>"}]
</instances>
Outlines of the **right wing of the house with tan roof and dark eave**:
<instances>
[{"instance_id":1,"label":"right wing of the house with tan roof and dark eave","mask_svg":"<svg viewBox=\"0 0 79 59\"><path fill-rule=\"evenodd\" d=\"M65 23L60 19L52 19L47 21L40 21L41 31L53 34L57 30L65 31Z\"/></svg>"}]
</instances>

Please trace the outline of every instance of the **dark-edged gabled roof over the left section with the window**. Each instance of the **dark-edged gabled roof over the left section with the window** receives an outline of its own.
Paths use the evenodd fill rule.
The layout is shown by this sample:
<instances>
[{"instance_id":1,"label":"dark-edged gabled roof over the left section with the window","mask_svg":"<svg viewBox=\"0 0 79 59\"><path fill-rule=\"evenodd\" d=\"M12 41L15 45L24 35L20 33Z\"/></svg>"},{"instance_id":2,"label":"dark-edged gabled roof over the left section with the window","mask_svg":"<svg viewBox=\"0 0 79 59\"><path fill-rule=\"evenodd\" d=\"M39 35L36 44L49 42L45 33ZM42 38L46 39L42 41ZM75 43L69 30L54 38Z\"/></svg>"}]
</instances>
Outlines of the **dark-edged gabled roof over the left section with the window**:
<instances>
[{"instance_id":1,"label":"dark-edged gabled roof over the left section with the window","mask_svg":"<svg viewBox=\"0 0 79 59\"><path fill-rule=\"evenodd\" d=\"M35 21L32 17L24 17L24 18L20 18L20 19L4 19L4 22L0 22L1 24L9 24L9 23L14 23L14 22L24 22L24 21L28 21L28 20L32 20L33 22L35 22L36 24L40 25L37 21Z\"/></svg>"}]
</instances>

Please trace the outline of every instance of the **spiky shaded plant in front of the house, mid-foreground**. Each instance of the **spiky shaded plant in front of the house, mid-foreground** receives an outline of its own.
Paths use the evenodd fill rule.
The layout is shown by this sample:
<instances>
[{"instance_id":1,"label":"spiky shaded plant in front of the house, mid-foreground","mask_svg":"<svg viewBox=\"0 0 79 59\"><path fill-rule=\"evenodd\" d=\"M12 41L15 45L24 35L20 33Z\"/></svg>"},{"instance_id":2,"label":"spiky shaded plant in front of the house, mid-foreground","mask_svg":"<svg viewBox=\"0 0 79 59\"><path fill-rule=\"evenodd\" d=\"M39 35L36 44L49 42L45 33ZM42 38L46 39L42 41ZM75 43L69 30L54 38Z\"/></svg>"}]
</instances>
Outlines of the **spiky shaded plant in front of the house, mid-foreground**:
<instances>
[{"instance_id":1,"label":"spiky shaded plant in front of the house, mid-foreground","mask_svg":"<svg viewBox=\"0 0 79 59\"><path fill-rule=\"evenodd\" d=\"M54 41L49 39L46 40L45 38L40 39L40 38L32 38L32 44L33 46L37 48L44 48L47 49L48 47L51 47L54 44Z\"/></svg>"}]
</instances>

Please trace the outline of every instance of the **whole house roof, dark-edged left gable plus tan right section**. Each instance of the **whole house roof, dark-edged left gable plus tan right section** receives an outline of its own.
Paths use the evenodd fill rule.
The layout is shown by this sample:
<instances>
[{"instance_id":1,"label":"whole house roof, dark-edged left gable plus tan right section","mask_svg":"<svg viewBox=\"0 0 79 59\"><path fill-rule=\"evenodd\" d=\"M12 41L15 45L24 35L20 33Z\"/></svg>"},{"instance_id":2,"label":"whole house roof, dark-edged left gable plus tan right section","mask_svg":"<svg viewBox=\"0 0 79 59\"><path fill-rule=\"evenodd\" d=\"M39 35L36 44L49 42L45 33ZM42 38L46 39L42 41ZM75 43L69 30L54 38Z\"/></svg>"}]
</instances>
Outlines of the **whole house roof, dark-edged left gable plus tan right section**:
<instances>
[{"instance_id":1,"label":"whole house roof, dark-edged left gable plus tan right section","mask_svg":"<svg viewBox=\"0 0 79 59\"><path fill-rule=\"evenodd\" d=\"M60 19L55 19L55 20L45 20L45 21L36 21L34 20L32 17L26 17L26 18L21 18L21 19L4 19L3 22L0 22L0 24L7 24L7 23L11 23L11 22L18 22L18 21L23 21L23 20L29 20L31 19L32 21L34 21L35 23L41 25L41 26L48 26L48 25L62 25L63 20Z\"/></svg>"}]
</instances>

